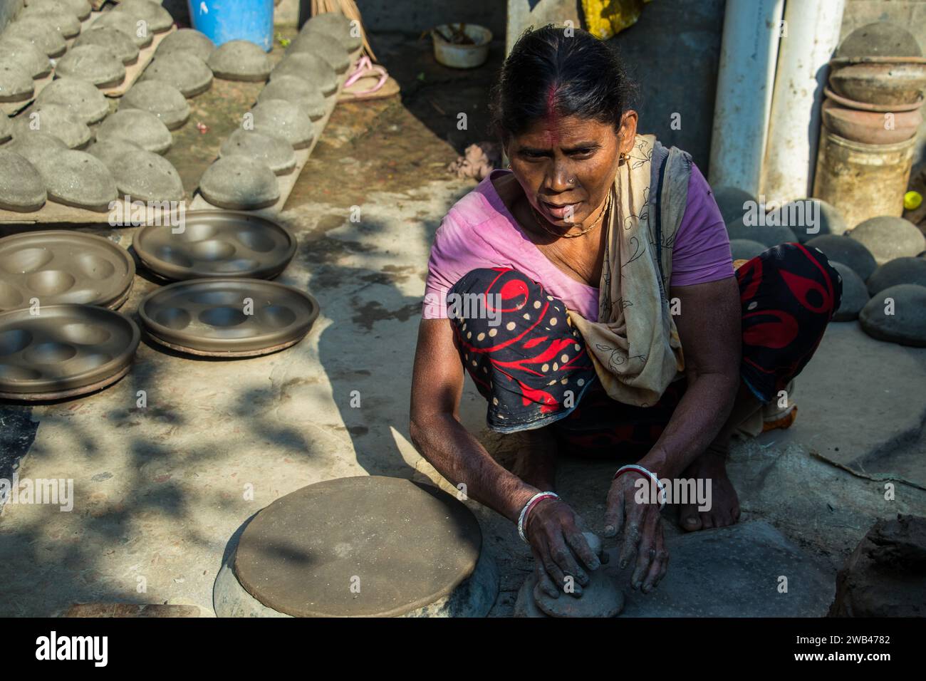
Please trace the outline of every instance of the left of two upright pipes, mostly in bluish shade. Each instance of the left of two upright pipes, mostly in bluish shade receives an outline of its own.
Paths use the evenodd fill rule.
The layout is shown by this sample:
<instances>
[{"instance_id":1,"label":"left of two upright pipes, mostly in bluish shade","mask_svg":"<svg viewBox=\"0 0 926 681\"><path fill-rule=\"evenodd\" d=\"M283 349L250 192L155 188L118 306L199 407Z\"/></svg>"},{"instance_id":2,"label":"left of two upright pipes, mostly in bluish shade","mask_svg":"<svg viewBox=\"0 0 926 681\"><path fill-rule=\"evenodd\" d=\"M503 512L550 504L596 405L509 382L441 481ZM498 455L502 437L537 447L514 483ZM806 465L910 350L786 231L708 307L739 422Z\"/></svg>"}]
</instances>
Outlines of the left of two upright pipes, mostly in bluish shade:
<instances>
[{"instance_id":1,"label":"left of two upright pipes, mostly in bluish shade","mask_svg":"<svg viewBox=\"0 0 926 681\"><path fill-rule=\"evenodd\" d=\"M711 185L758 195L784 0L727 0L720 45Z\"/></svg>"}]
</instances>

